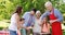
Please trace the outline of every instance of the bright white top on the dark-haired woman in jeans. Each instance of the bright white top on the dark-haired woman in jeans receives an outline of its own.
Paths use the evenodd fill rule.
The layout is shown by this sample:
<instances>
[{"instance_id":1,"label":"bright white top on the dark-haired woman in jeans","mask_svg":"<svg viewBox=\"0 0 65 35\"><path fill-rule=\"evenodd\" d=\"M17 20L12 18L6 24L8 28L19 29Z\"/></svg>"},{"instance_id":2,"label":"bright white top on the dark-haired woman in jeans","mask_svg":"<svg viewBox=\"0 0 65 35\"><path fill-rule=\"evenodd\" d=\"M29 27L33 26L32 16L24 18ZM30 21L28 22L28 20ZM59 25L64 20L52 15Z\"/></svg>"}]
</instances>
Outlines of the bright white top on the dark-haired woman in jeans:
<instances>
[{"instance_id":1,"label":"bright white top on the dark-haired woman in jeans","mask_svg":"<svg viewBox=\"0 0 65 35\"><path fill-rule=\"evenodd\" d=\"M9 30L11 31L17 31L16 19L15 19L16 15L17 13L14 13L11 18L11 24L9 26Z\"/></svg>"}]
</instances>

